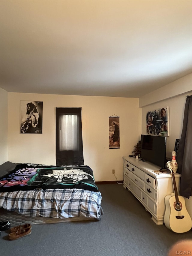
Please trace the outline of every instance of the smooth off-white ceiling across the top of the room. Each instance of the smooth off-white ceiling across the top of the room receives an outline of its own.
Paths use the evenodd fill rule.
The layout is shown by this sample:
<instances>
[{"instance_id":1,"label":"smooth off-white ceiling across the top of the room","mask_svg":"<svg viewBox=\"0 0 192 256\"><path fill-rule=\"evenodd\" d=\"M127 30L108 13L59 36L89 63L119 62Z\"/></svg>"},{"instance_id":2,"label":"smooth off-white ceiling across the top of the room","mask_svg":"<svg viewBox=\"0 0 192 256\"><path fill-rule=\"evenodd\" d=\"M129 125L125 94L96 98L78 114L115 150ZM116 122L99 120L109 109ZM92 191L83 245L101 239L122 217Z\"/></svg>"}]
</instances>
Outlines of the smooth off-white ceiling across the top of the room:
<instances>
[{"instance_id":1,"label":"smooth off-white ceiling across the top of the room","mask_svg":"<svg viewBox=\"0 0 192 256\"><path fill-rule=\"evenodd\" d=\"M192 1L0 1L0 87L140 97L192 72Z\"/></svg>"}]
</instances>

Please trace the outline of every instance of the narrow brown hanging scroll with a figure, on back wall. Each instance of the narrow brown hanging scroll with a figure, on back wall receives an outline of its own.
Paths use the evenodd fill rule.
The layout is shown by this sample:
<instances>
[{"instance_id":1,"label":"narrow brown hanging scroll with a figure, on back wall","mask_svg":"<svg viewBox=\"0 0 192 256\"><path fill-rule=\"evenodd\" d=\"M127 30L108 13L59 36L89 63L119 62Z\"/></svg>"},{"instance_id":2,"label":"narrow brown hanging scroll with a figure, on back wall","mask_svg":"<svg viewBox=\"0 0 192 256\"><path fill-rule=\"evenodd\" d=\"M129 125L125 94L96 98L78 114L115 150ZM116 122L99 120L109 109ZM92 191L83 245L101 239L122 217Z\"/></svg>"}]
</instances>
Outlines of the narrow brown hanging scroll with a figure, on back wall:
<instances>
[{"instance_id":1,"label":"narrow brown hanging scroll with a figure, on back wall","mask_svg":"<svg viewBox=\"0 0 192 256\"><path fill-rule=\"evenodd\" d=\"M109 148L120 149L119 116L109 117Z\"/></svg>"}]
</instances>

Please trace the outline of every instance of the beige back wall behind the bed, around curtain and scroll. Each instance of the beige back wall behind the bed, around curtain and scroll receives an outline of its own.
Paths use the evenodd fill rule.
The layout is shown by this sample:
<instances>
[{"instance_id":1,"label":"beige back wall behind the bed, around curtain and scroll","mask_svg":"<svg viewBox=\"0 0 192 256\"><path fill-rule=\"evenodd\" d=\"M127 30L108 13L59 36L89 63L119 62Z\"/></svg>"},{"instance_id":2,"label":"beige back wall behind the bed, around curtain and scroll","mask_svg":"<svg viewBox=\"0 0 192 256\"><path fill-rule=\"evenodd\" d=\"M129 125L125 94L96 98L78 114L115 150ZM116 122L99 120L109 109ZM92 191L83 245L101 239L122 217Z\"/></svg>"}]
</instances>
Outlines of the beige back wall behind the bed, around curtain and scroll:
<instances>
[{"instance_id":1,"label":"beige back wall behind the bed, around curtain and scroll","mask_svg":"<svg viewBox=\"0 0 192 256\"><path fill-rule=\"evenodd\" d=\"M43 101L43 134L20 134L20 100ZM8 160L55 164L55 107L82 107L84 163L96 181L123 180L123 159L141 134L138 98L8 93ZM109 116L120 116L120 149L109 149Z\"/></svg>"}]
</instances>

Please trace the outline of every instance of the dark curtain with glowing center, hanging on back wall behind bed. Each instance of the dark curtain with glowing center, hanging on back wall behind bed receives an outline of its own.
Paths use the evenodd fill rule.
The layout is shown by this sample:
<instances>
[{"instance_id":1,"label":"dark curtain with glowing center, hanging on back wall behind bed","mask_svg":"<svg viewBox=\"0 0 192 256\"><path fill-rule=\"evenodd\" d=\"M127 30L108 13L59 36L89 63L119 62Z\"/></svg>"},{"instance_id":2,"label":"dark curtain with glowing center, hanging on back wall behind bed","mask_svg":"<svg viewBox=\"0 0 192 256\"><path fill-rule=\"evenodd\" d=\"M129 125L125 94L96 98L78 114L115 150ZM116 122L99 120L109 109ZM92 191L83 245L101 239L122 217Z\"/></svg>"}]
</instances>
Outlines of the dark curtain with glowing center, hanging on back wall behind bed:
<instances>
[{"instance_id":1,"label":"dark curtain with glowing center, hanging on back wall behind bed","mask_svg":"<svg viewBox=\"0 0 192 256\"><path fill-rule=\"evenodd\" d=\"M75 134L71 134L70 125L62 122L62 118L66 116L75 117L75 122L72 124L76 126L74 131ZM70 122L71 124L71 122ZM69 130L70 138L73 135L75 140L75 146L67 149L61 144L65 144L63 140L62 132L65 132L65 141L67 140L67 132ZM73 129L71 129L73 130ZM62 141L63 140L63 141ZM66 143L67 144L67 143ZM83 159L83 144L82 144L82 125L81 125L81 108L56 108L56 165L73 165L84 164Z\"/></svg>"}]
</instances>

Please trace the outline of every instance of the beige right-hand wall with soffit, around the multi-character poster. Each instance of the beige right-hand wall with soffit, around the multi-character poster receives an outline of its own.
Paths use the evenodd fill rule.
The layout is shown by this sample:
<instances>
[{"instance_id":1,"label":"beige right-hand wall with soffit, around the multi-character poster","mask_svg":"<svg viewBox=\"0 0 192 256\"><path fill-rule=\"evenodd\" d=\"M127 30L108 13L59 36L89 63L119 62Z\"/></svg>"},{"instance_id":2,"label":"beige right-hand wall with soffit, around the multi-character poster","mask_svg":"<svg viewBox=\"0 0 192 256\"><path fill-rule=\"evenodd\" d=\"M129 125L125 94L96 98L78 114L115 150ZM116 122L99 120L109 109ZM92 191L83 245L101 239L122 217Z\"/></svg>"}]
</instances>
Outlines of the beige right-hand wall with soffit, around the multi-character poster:
<instances>
[{"instance_id":1,"label":"beige right-hand wall with soffit, around the multi-character poster","mask_svg":"<svg viewBox=\"0 0 192 256\"><path fill-rule=\"evenodd\" d=\"M172 93L171 93L172 89ZM162 100L162 95L164 99ZM183 127L183 115L186 96L192 95L192 74L182 77L175 82L161 87L140 98L142 107L142 134L146 134L146 114L149 110L155 110L162 106L169 107L170 132L167 137L167 157L172 158L172 151L175 148L175 140L181 138ZM151 104L150 104L151 103ZM192 218L192 197L185 198L186 207Z\"/></svg>"}]
</instances>

